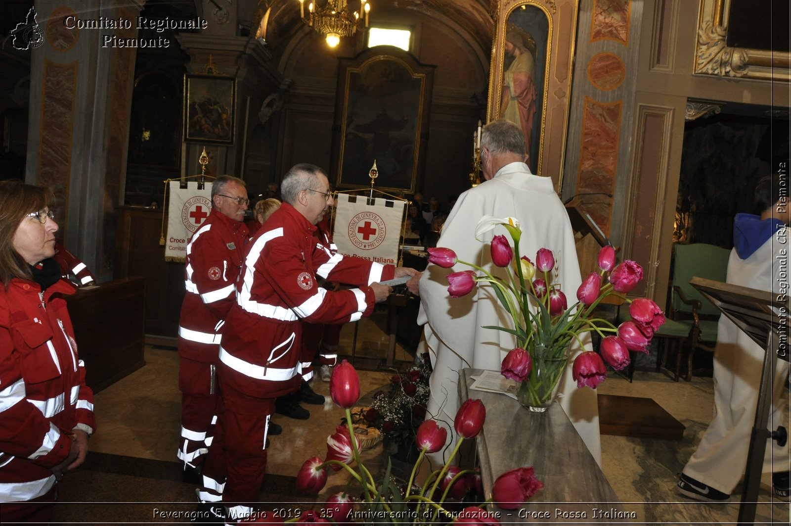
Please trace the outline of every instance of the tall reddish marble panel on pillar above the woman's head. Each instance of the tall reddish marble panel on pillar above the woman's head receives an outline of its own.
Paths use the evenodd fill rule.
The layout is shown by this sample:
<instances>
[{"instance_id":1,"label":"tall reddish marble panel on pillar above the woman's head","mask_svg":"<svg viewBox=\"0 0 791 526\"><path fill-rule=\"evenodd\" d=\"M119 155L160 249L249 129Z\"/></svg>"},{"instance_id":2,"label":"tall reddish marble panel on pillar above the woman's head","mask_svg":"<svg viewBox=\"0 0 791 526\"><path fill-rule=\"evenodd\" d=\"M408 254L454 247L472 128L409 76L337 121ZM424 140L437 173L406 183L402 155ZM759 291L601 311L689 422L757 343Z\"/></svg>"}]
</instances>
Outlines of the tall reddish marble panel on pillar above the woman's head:
<instances>
[{"instance_id":1,"label":"tall reddish marble panel on pillar above the woman's head","mask_svg":"<svg viewBox=\"0 0 791 526\"><path fill-rule=\"evenodd\" d=\"M62 211L58 222L65 238L77 61L58 64L45 59L43 76L38 184L55 192L53 208Z\"/></svg>"}]
</instances>

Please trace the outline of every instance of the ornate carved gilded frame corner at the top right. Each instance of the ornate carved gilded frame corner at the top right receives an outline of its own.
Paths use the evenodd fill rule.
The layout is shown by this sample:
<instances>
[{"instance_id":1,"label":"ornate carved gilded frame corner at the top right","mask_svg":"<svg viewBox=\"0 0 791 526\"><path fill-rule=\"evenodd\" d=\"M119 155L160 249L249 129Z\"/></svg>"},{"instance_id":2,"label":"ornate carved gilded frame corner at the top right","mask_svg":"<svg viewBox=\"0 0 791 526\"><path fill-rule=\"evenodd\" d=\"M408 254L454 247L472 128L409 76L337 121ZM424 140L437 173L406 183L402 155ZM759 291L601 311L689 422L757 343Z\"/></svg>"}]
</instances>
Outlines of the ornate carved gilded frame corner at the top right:
<instances>
[{"instance_id":1,"label":"ornate carved gilded frame corner at the top right","mask_svg":"<svg viewBox=\"0 0 791 526\"><path fill-rule=\"evenodd\" d=\"M730 7L730 0L702 0L694 72L718 77L791 81L791 53L728 47Z\"/></svg>"}]
</instances>

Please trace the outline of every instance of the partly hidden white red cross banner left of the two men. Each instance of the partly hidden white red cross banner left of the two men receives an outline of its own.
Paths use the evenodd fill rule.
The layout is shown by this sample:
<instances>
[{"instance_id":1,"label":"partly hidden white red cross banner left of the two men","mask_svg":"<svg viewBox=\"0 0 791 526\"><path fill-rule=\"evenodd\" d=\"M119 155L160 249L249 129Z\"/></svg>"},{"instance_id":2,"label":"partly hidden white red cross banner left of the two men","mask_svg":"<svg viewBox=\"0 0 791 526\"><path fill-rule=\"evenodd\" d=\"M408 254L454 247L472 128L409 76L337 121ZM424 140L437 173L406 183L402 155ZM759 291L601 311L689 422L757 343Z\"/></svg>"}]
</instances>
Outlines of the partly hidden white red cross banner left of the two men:
<instances>
[{"instance_id":1,"label":"partly hidden white red cross banner left of the two men","mask_svg":"<svg viewBox=\"0 0 791 526\"><path fill-rule=\"evenodd\" d=\"M195 181L187 182L186 189L180 186L180 181L170 181L165 261L184 261L187 242L211 210L211 185L206 185L204 190L199 190Z\"/></svg>"}]
</instances>

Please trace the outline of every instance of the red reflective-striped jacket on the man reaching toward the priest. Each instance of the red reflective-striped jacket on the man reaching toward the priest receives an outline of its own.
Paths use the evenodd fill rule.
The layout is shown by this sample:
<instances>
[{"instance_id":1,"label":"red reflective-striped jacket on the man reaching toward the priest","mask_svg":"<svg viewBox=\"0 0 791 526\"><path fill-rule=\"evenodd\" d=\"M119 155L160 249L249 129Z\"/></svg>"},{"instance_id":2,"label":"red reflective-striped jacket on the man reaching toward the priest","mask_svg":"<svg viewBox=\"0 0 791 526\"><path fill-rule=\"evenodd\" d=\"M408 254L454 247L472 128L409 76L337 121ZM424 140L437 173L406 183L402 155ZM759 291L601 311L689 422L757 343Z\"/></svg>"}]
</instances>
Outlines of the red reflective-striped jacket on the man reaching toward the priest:
<instances>
[{"instance_id":1,"label":"red reflective-striped jacket on the man reaching toward the priest","mask_svg":"<svg viewBox=\"0 0 791 526\"><path fill-rule=\"evenodd\" d=\"M283 203L249 243L237 303L222 327L222 383L249 396L275 398L299 387L300 320L354 322L373 311L368 285L392 279L393 265L344 257L316 243L316 227ZM316 276L361 285L339 292Z\"/></svg>"}]
</instances>

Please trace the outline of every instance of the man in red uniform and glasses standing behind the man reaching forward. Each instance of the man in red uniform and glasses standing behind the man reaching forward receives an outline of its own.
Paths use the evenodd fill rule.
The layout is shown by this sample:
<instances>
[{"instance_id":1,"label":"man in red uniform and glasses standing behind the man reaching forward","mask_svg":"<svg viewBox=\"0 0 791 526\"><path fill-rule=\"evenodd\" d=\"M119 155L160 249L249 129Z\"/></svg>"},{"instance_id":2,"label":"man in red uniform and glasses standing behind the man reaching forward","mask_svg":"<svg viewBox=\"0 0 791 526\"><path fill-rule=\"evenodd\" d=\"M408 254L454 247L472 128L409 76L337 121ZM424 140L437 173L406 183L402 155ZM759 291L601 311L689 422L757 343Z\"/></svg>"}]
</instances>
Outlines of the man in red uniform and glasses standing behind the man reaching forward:
<instances>
[{"instance_id":1,"label":"man in red uniform and glasses standing behind the man reaching forward","mask_svg":"<svg viewBox=\"0 0 791 526\"><path fill-rule=\"evenodd\" d=\"M178 457L184 462L187 478L195 482L200 482L218 413L219 328L236 299L235 287L248 238L243 222L248 208L244 181L229 175L218 177L211 186L211 202L209 217L187 245L187 294L179 322L182 398Z\"/></svg>"}]
</instances>

